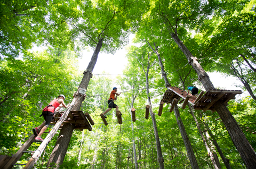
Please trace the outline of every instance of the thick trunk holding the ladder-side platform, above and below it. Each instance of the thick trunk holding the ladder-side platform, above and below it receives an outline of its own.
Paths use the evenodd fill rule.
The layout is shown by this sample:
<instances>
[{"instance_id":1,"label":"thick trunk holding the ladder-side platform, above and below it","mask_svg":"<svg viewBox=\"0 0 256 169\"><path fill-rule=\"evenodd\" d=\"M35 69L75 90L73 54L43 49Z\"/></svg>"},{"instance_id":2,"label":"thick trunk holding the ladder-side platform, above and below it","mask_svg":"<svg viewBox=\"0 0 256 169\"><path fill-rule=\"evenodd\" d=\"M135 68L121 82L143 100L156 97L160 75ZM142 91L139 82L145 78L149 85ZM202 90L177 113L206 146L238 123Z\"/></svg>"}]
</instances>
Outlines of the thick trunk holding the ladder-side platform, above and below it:
<instances>
[{"instance_id":1,"label":"thick trunk holding the ladder-side platform, above and below it","mask_svg":"<svg viewBox=\"0 0 256 169\"><path fill-rule=\"evenodd\" d=\"M103 39L99 39L98 44L95 47L94 53L92 55L91 61L90 61L89 65L87 66L87 69L86 69L87 73L84 74L83 79L82 79L77 91L79 91L80 88L87 89L87 87L89 85L89 81L91 79L90 72L93 71L94 66L97 62L100 48L102 46L102 41L103 41ZM79 98L80 97L78 95L76 95L74 97L72 103L75 103L75 105L73 106L71 111L76 111L76 110L80 109L83 99L79 99ZM59 134L59 138L58 138L57 142L55 143L54 149L49 158L49 162L47 162L47 166L49 166L51 163L55 163L55 164L63 163L73 130L74 130L74 125L70 125L70 124L63 125L63 128L61 129L60 134ZM71 133L71 134L67 134L67 133Z\"/></svg>"}]
</instances>

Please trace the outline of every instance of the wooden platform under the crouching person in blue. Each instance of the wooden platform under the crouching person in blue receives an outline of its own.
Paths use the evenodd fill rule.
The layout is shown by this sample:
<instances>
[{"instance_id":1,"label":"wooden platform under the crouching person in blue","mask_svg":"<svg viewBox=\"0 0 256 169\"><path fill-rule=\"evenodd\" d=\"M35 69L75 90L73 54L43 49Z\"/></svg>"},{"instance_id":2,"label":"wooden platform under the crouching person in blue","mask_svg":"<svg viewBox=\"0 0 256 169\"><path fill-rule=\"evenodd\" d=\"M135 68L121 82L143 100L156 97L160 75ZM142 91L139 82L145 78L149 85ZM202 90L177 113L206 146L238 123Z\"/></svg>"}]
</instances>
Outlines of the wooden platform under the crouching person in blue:
<instances>
[{"instance_id":1,"label":"wooden platform under the crouching person in blue","mask_svg":"<svg viewBox=\"0 0 256 169\"><path fill-rule=\"evenodd\" d=\"M222 100L223 103L228 103L230 99L235 99L235 96L237 94L242 94L241 90L208 90L203 95L203 92L199 94L198 98L196 96L188 95L190 96L187 98L188 103L193 105L194 109L202 109L204 112L206 110L215 111L213 105L218 100ZM169 87L167 91L165 91L164 96L161 100L161 102L164 103L171 103L174 98L180 100L179 103L182 103L184 100L186 100L187 91L182 90L177 87ZM182 108L185 108L185 105L182 105Z\"/></svg>"}]
</instances>

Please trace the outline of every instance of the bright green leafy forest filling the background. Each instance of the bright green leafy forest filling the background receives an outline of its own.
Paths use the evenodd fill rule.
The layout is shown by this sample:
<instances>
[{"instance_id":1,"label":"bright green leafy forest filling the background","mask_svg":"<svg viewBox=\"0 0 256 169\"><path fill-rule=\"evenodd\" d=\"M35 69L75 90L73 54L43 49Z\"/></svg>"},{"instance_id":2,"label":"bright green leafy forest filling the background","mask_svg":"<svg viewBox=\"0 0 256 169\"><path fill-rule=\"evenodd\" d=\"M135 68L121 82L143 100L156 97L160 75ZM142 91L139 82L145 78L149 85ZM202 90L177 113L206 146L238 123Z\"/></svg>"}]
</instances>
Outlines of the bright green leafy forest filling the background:
<instances>
[{"instance_id":1,"label":"bright green leafy forest filling the background","mask_svg":"<svg viewBox=\"0 0 256 169\"><path fill-rule=\"evenodd\" d=\"M17 152L33 134L31 129L43 122L39 117L42 107L53 98L64 94L65 103L71 102L87 66L79 62L82 57L92 55L83 53L94 50L95 39L102 38L98 60L103 60L102 54L116 56L116 51L125 48L127 63L122 63L125 68L121 72L117 68L121 63L116 58L108 59L101 66L106 71L93 75L81 109L90 113L95 125L92 131L74 130L60 167L159 168L153 124L150 117L145 119L148 96L142 65L151 65L148 87L156 114L166 88L157 55L149 44L158 49L172 86L186 90L187 86L195 85L204 90L196 72L172 40L170 29L174 29L206 72L220 72L239 81L238 87L245 95L230 100L228 108L255 150L255 3L255 0L2 1L0 154L11 156ZM133 45L126 47L130 35ZM35 48L40 50L32 50ZM116 73L109 74L108 70ZM116 102L123 113L123 124L117 123L112 110L105 126L99 115L108 107L113 87L118 87L118 92L128 91ZM190 109L178 106L199 167L213 168ZM131 120L132 107L137 109L136 122ZM170 105L165 104L162 116L155 116L165 168L191 168L175 115L169 109ZM206 137L211 150L218 152L212 143L217 140L231 168L246 168L225 125L217 120L218 113L194 110L194 114L205 137L207 132L211 135ZM46 147L36 168L45 168L56 140L57 136ZM218 157L225 168L219 154ZM30 155L25 155L18 163L24 164L29 158Z\"/></svg>"}]
</instances>

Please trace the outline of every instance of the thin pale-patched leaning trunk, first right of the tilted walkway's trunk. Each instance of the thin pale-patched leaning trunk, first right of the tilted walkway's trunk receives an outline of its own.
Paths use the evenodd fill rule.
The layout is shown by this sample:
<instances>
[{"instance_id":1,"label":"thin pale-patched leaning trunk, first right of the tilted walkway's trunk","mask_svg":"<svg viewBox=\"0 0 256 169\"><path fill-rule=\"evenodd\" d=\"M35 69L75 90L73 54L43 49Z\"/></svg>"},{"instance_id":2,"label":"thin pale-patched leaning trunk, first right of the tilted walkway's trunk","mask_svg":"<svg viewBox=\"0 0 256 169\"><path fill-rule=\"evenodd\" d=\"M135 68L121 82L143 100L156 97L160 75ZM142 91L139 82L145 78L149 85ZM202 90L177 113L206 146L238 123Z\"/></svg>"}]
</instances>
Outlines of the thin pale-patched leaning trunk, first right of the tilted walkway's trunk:
<instances>
[{"instance_id":1,"label":"thin pale-patched leaning trunk, first right of the tilted walkway's trunk","mask_svg":"<svg viewBox=\"0 0 256 169\"><path fill-rule=\"evenodd\" d=\"M210 157L214 168L215 168L215 169L221 168L221 167L219 167L220 165L217 164L217 160L215 160L215 158L214 158L214 156L213 156L213 153L212 153L212 150L211 150L210 147L207 145L206 139L205 139L204 134L203 134L203 132L202 132L202 130L201 130L201 126L200 126L200 124L198 123L198 121L197 121L197 119L196 119L196 116L195 116L195 114L194 114L194 112L193 112L193 109L192 109L192 107L190 106L190 104L188 104L188 107L189 107L189 109L190 109L190 114L193 116L193 118L194 118L194 120L195 120L195 122L196 122L197 129L198 129L199 134L200 134L200 136L201 136L201 138L202 138L202 140L203 140L203 142L204 142L204 146L205 146L205 148L206 148L206 150L207 150L208 156ZM219 160L218 160L218 161L219 161Z\"/></svg>"}]
</instances>

